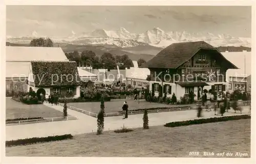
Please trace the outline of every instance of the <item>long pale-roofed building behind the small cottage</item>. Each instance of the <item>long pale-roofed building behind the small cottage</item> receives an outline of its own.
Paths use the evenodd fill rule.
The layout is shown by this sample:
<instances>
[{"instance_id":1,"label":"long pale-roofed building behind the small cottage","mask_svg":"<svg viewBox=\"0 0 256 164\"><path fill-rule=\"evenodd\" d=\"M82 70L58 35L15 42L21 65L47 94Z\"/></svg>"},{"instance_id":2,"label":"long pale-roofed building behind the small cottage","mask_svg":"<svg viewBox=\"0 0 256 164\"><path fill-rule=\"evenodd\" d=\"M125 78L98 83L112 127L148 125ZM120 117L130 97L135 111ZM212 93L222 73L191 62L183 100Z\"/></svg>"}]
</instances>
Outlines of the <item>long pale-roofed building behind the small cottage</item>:
<instances>
[{"instance_id":1,"label":"long pale-roofed building behind the small cottage","mask_svg":"<svg viewBox=\"0 0 256 164\"><path fill-rule=\"evenodd\" d=\"M31 61L69 61L60 47L6 47L6 90L26 92Z\"/></svg>"}]
</instances>

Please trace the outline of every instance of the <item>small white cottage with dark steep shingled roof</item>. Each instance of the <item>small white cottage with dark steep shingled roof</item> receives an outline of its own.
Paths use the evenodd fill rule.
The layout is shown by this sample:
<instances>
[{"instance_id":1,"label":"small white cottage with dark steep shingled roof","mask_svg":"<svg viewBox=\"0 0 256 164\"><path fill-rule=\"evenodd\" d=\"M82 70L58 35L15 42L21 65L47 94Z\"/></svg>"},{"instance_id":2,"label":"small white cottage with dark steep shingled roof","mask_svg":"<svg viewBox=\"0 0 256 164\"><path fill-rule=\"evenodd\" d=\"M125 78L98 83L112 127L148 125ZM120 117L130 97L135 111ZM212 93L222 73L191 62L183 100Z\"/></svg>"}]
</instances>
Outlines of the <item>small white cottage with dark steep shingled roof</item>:
<instances>
[{"instance_id":1,"label":"small white cottage with dark steep shingled roof","mask_svg":"<svg viewBox=\"0 0 256 164\"><path fill-rule=\"evenodd\" d=\"M82 85L76 62L69 61L32 61L27 84L28 91L61 97L80 97Z\"/></svg>"}]
</instances>

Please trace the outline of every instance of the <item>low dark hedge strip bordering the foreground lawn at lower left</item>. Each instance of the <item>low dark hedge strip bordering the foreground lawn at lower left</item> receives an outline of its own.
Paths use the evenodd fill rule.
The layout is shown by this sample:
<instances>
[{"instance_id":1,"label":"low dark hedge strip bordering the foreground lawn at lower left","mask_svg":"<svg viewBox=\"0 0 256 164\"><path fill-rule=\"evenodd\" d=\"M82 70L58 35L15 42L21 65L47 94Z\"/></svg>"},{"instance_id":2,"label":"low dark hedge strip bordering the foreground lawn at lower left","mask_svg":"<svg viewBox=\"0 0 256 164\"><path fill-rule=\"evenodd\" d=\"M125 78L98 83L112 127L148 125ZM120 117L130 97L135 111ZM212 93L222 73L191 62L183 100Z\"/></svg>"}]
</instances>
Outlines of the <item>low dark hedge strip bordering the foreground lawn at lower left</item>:
<instances>
[{"instance_id":1,"label":"low dark hedge strip bordering the foreground lawn at lower left","mask_svg":"<svg viewBox=\"0 0 256 164\"><path fill-rule=\"evenodd\" d=\"M48 137L42 137L42 138L34 137L29 139L6 141L5 146L11 147L11 146L17 146L17 145L29 145L29 144L42 143L42 142L67 140L72 138L73 136L71 134L55 135L55 136L48 136Z\"/></svg>"}]
</instances>

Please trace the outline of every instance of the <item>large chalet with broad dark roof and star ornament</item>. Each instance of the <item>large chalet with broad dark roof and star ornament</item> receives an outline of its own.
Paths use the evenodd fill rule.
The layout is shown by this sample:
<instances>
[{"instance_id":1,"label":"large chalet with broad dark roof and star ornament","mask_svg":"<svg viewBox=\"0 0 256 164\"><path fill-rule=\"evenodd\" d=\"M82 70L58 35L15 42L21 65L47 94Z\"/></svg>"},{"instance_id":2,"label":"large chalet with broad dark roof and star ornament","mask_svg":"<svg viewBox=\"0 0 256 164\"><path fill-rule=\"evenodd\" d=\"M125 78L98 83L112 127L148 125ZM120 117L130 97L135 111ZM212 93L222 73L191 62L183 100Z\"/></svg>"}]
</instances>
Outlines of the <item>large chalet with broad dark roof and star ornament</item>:
<instances>
[{"instance_id":1,"label":"large chalet with broad dark roof and star ornament","mask_svg":"<svg viewBox=\"0 0 256 164\"><path fill-rule=\"evenodd\" d=\"M226 71L238 69L204 41L173 43L143 67L150 69L150 91L167 97L175 93L177 99L189 92L198 99L204 89L225 92Z\"/></svg>"}]
</instances>

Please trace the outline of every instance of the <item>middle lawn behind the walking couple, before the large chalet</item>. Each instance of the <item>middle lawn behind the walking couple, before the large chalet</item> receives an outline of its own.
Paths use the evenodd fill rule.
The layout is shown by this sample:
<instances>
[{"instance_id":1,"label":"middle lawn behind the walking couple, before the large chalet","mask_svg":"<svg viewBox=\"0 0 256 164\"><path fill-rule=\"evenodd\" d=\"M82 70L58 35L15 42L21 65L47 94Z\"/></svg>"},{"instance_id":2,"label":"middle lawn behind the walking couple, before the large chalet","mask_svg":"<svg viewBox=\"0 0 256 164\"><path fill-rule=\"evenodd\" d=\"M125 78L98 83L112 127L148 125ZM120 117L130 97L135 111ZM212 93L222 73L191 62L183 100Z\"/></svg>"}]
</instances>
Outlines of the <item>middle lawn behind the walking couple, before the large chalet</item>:
<instances>
[{"instance_id":1,"label":"middle lawn behind the walking couple, before the large chalet","mask_svg":"<svg viewBox=\"0 0 256 164\"><path fill-rule=\"evenodd\" d=\"M123 102L127 101L129 105L129 110L137 110L140 108L152 108L152 107L175 107L175 106L189 106L193 104L186 104L186 105L168 105L162 103L155 103L155 102L147 102L144 99L138 101L135 100L124 100L124 99L112 99L111 101L104 102L105 105L105 113L116 113L118 111L122 111ZM71 102L68 103L70 106L74 106L77 108L81 108L82 110L86 110L93 113L98 113L100 110L100 102Z\"/></svg>"}]
</instances>

